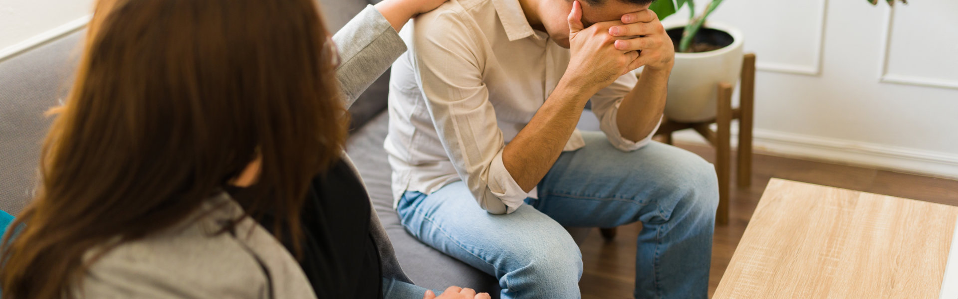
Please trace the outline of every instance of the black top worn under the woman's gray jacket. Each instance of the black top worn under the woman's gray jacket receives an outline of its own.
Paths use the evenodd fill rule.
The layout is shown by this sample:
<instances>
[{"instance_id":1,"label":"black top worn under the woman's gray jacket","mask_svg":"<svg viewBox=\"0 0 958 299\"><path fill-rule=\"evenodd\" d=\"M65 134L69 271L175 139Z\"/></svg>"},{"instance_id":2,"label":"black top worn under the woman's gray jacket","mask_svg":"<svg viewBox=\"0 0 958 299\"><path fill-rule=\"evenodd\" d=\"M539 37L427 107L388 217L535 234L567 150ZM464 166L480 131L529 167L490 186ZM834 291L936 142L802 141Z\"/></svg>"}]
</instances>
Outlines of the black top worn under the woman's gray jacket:
<instances>
[{"instance_id":1,"label":"black top worn under the woman's gray jacket","mask_svg":"<svg viewBox=\"0 0 958 299\"><path fill-rule=\"evenodd\" d=\"M232 189L234 197L242 190ZM313 177L300 215L304 237L300 266L317 298L382 298L376 242L370 234L372 207L366 189L346 162ZM276 219L267 214L267 230ZM296 254L288 236L278 238Z\"/></svg>"}]
</instances>

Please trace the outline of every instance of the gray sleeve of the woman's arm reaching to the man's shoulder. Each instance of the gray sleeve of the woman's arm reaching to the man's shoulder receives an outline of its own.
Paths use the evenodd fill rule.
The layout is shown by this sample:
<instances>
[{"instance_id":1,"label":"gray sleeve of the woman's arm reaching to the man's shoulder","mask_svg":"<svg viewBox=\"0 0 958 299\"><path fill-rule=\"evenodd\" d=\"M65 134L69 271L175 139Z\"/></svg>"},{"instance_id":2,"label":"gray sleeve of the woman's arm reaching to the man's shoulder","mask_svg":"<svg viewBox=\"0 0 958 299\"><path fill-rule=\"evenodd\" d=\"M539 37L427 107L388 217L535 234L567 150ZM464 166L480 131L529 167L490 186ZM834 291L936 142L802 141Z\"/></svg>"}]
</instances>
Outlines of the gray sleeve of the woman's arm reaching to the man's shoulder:
<instances>
[{"instance_id":1,"label":"gray sleeve of the woman's arm reaching to the man's shoulder","mask_svg":"<svg viewBox=\"0 0 958 299\"><path fill-rule=\"evenodd\" d=\"M372 5L359 12L332 40L339 48L336 79L347 107L406 52L402 38Z\"/></svg>"}]
</instances>

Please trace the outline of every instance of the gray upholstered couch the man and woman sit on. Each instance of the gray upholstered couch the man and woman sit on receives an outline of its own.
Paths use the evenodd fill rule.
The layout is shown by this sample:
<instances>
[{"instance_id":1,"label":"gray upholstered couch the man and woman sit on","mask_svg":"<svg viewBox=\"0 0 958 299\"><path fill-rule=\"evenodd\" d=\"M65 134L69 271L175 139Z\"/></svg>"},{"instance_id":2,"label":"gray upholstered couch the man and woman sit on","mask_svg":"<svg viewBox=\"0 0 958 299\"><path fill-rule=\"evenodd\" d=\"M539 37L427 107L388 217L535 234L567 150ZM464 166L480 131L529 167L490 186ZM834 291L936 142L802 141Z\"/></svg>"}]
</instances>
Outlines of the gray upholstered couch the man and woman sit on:
<instances>
[{"instance_id":1,"label":"gray upholstered couch the man and woman sit on","mask_svg":"<svg viewBox=\"0 0 958 299\"><path fill-rule=\"evenodd\" d=\"M367 0L321 0L331 32L346 24ZM378 2L370 0L370 2ZM40 144L50 119L43 112L68 91L84 32L68 34L0 61L0 210L19 213L32 197ZM488 291L498 297L495 278L463 264L410 236L392 209L390 169L382 148L388 116L388 74L351 107L352 135L347 151L366 182L376 212L396 248L405 272L425 288L450 285ZM591 116L591 113L584 113ZM594 120L587 127L598 127ZM585 229L570 230L582 240Z\"/></svg>"}]
</instances>

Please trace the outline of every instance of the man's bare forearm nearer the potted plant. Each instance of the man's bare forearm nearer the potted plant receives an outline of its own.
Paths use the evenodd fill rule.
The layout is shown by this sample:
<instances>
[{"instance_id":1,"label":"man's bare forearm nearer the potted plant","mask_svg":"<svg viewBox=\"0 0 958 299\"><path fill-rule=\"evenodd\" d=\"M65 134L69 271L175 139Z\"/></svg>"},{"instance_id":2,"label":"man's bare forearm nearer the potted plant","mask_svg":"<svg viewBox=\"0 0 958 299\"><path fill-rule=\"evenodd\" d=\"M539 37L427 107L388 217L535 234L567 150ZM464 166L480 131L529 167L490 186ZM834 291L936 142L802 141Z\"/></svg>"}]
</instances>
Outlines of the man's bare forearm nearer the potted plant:
<instances>
[{"instance_id":1,"label":"man's bare forearm nearer the potted plant","mask_svg":"<svg viewBox=\"0 0 958 299\"><path fill-rule=\"evenodd\" d=\"M638 142L655 129L665 109L671 73L671 68L642 72L639 82L628 92L616 114L616 125L622 137Z\"/></svg>"}]
</instances>

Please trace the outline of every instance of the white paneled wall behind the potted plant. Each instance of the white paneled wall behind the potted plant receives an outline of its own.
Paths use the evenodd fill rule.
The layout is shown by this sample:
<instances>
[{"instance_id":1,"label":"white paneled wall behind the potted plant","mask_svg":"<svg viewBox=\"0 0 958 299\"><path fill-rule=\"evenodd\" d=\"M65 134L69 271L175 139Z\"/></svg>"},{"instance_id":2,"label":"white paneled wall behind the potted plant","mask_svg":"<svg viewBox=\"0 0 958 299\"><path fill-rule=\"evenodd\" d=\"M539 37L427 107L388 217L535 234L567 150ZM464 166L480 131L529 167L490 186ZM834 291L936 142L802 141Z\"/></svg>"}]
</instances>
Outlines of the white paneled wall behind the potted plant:
<instances>
[{"instance_id":1,"label":"white paneled wall behind the potted plant","mask_svg":"<svg viewBox=\"0 0 958 299\"><path fill-rule=\"evenodd\" d=\"M724 1L758 56L756 146L958 177L958 2L909 3Z\"/></svg>"}]
</instances>

